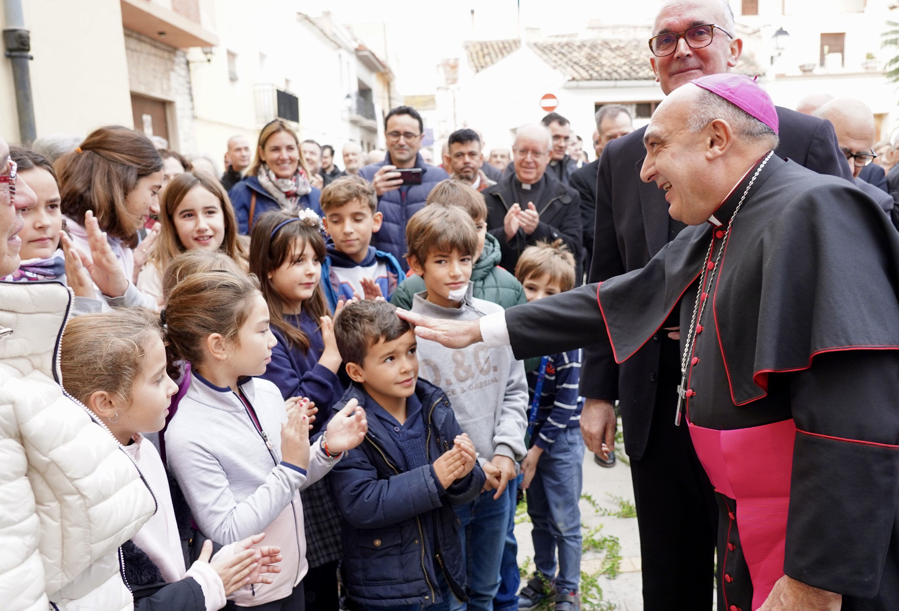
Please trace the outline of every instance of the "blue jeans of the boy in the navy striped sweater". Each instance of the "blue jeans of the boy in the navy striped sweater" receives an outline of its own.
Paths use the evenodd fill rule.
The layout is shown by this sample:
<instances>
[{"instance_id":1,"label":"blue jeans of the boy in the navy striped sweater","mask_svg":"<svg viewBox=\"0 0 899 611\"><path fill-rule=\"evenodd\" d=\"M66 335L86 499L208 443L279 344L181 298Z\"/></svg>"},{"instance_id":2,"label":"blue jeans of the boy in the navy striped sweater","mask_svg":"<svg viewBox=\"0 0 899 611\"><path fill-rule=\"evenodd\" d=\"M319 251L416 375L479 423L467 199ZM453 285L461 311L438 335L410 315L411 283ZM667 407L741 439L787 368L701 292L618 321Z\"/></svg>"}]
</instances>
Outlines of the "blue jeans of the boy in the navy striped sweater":
<instances>
[{"instance_id":1,"label":"blue jeans of the boy in the navy striped sweater","mask_svg":"<svg viewBox=\"0 0 899 611\"><path fill-rule=\"evenodd\" d=\"M559 592L576 592L581 580L581 510L577 503L582 483L581 430L565 429L540 455L527 491L534 564L547 579L556 578Z\"/></svg>"}]
</instances>

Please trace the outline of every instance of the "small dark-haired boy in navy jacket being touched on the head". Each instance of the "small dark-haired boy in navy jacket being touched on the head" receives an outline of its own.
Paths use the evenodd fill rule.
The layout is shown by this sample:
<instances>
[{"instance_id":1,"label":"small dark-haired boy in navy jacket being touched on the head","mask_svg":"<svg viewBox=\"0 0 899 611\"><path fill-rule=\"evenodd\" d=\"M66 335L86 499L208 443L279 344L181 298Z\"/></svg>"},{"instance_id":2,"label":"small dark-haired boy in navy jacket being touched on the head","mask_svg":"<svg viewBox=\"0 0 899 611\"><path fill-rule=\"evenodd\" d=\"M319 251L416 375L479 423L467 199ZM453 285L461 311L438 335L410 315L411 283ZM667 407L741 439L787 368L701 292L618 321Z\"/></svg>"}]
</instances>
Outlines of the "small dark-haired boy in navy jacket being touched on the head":
<instances>
[{"instance_id":1,"label":"small dark-haired boy in navy jacket being touched on the head","mask_svg":"<svg viewBox=\"0 0 899 611\"><path fill-rule=\"evenodd\" d=\"M343 517L343 583L360 609L449 609L467 600L453 505L485 483L446 394L418 379L415 334L386 301L343 309L334 335L369 418L365 441L331 476Z\"/></svg>"}]
</instances>

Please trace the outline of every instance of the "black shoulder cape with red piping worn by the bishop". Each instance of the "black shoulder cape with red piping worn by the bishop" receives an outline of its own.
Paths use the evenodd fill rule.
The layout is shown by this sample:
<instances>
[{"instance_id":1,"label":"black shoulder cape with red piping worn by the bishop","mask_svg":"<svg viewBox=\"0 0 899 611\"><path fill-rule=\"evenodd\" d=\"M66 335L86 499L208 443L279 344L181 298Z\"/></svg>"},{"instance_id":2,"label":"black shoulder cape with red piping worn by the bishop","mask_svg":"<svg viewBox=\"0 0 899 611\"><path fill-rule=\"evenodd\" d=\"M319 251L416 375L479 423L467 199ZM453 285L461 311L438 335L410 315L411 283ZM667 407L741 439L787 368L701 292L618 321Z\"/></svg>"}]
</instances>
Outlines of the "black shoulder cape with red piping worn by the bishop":
<instances>
[{"instance_id":1,"label":"black shoulder cape with red piping worn by the bishop","mask_svg":"<svg viewBox=\"0 0 899 611\"><path fill-rule=\"evenodd\" d=\"M720 230L751 177L717 209ZM699 277L718 230L688 227L643 270L601 283L619 363L659 330ZM804 369L817 354L899 349L899 234L850 182L772 157L734 221L725 259L715 315L735 404L764 396L771 372ZM684 300L681 323L690 323L692 306Z\"/></svg>"}]
</instances>

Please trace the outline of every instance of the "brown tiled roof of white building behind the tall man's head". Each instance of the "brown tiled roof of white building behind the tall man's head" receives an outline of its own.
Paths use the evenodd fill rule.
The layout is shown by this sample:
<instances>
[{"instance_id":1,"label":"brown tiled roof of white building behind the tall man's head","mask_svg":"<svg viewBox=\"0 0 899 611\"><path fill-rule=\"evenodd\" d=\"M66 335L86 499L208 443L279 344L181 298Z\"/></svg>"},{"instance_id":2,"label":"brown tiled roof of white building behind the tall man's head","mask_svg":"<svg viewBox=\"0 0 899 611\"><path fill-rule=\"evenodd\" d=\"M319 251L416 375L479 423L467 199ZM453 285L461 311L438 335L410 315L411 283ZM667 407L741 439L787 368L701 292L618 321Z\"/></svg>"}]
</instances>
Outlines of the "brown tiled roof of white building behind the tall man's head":
<instances>
[{"instance_id":1,"label":"brown tiled roof of white building behind the tall man's head","mask_svg":"<svg viewBox=\"0 0 899 611\"><path fill-rule=\"evenodd\" d=\"M571 81L644 81L655 78L649 48L643 39L543 39L528 42L539 58ZM521 41L468 40L468 65L475 73L521 47ZM752 60L741 58L734 72L763 75Z\"/></svg>"}]
</instances>

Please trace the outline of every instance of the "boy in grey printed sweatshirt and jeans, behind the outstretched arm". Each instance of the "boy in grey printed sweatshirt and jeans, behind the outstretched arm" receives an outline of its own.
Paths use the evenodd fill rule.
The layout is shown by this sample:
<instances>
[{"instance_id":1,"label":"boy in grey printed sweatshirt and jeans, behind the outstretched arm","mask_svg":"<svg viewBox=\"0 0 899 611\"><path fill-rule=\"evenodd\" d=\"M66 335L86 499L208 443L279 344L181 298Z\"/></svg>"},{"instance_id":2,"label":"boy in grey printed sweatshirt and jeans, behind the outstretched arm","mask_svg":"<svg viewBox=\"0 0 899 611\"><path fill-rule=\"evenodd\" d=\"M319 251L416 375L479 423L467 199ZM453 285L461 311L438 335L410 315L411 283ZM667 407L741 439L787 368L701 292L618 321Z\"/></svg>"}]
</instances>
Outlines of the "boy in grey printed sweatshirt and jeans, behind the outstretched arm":
<instances>
[{"instance_id":1,"label":"boy in grey printed sweatshirt and jeans, behind the outstretched arm","mask_svg":"<svg viewBox=\"0 0 899 611\"><path fill-rule=\"evenodd\" d=\"M471 320L503 309L471 295L468 280L477 233L464 210L437 204L422 208L406 225L406 244L409 267L425 286L414 296L413 312ZM515 502L515 489L506 484L516 477L516 463L526 454L528 383L524 365L515 360L509 347L488 349L483 343L450 350L420 340L418 356L421 376L440 385L449 397L456 420L475 443L487 477L486 491L456 510L468 559L467 608L492 611L500 586L507 511Z\"/></svg>"}]
</instances>

